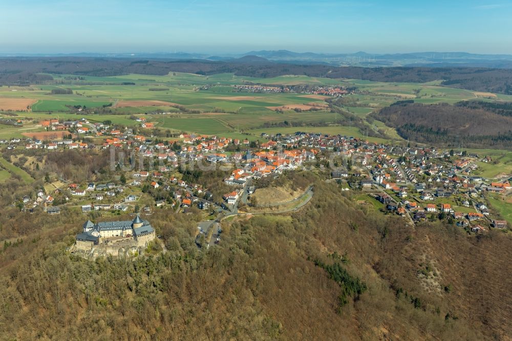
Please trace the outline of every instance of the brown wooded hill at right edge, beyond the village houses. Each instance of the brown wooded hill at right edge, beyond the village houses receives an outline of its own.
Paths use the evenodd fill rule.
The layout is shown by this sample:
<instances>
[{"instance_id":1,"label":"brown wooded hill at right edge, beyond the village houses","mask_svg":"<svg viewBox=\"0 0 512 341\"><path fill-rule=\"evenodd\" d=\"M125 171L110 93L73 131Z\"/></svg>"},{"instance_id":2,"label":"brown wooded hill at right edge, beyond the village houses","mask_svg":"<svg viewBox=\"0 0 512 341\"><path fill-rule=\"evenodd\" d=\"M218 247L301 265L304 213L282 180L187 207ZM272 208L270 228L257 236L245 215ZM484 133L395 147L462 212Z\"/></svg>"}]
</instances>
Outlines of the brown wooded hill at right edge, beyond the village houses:
<instances>
[{"instance_id":1,"label":"brown wooded hill at right edge, beyond the village houses","mask_svg":"<svg viewBox=\"0 0 512 341\"><path fill-rule=\"evenodd\" d=\"M507 104L479 102L419 104L402 101L372 118L395 127L404 139L448 146L512 148L512 116Z\"/></svg>"}]
</instances>

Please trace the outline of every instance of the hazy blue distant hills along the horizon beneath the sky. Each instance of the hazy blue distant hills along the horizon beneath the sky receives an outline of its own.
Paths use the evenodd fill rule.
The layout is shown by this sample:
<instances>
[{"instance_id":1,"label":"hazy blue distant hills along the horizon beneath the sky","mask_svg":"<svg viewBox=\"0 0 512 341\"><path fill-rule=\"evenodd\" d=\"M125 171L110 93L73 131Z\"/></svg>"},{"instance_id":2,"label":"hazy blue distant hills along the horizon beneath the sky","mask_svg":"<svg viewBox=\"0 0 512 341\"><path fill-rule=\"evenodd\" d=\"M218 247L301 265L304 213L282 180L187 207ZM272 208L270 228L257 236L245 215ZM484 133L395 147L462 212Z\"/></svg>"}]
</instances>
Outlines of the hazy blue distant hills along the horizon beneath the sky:
<instances>
[{"instance_id":1,"label":"hazy blue distant hills along the horizon beneath the sky","mask_svg":"<svg viewBox=\"0 0 512 341\"><path fill-rule=\"evenodd\" d=\"M379 54L358 51L355 53L315 53L288 50L249 51L240 54L208 54L193 52L123 52L123 53L3 53L0 57L109 57L109 58L158 58L158 59L206 59L230 61L246 56L257 56L271 61L290 63L326 63L363 67L425 66L425 67L485 67L512 68L512 55L474 54L467 52L411 52ZM260 60L262 61L262 60Z\"/></svg>"}]
</instances>

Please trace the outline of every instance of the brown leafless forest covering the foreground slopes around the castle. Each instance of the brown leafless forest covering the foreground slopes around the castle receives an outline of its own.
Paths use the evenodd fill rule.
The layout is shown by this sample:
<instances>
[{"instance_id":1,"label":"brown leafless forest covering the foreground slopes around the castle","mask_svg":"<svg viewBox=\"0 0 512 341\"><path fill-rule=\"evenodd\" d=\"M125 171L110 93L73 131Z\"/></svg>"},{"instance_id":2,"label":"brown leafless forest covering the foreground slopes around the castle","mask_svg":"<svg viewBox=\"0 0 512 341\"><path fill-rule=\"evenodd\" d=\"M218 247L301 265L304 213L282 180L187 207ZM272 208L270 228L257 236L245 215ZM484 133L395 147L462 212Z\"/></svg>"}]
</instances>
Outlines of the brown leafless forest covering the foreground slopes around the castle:
<instances>
[{"instance_id":1,"label":"brown leafless forest covering the foreground slopes around the castle","mask_svg":"<svg viewBox=\"0 0 512 341\"><path fill-rule=\"evenodd\" d=\"M293 215L223 222L194 243L196 215L157 209L147 257L87 261L66 252L86 216L19 214L0 234L3 339L507 339L509 236L468 236L358 206L309 174ZM4 191L5 188L2 188ZM130 217L119 217L129 219ZM51 321L51 323L49 323Z\"/></svg>"}]
</instances>

